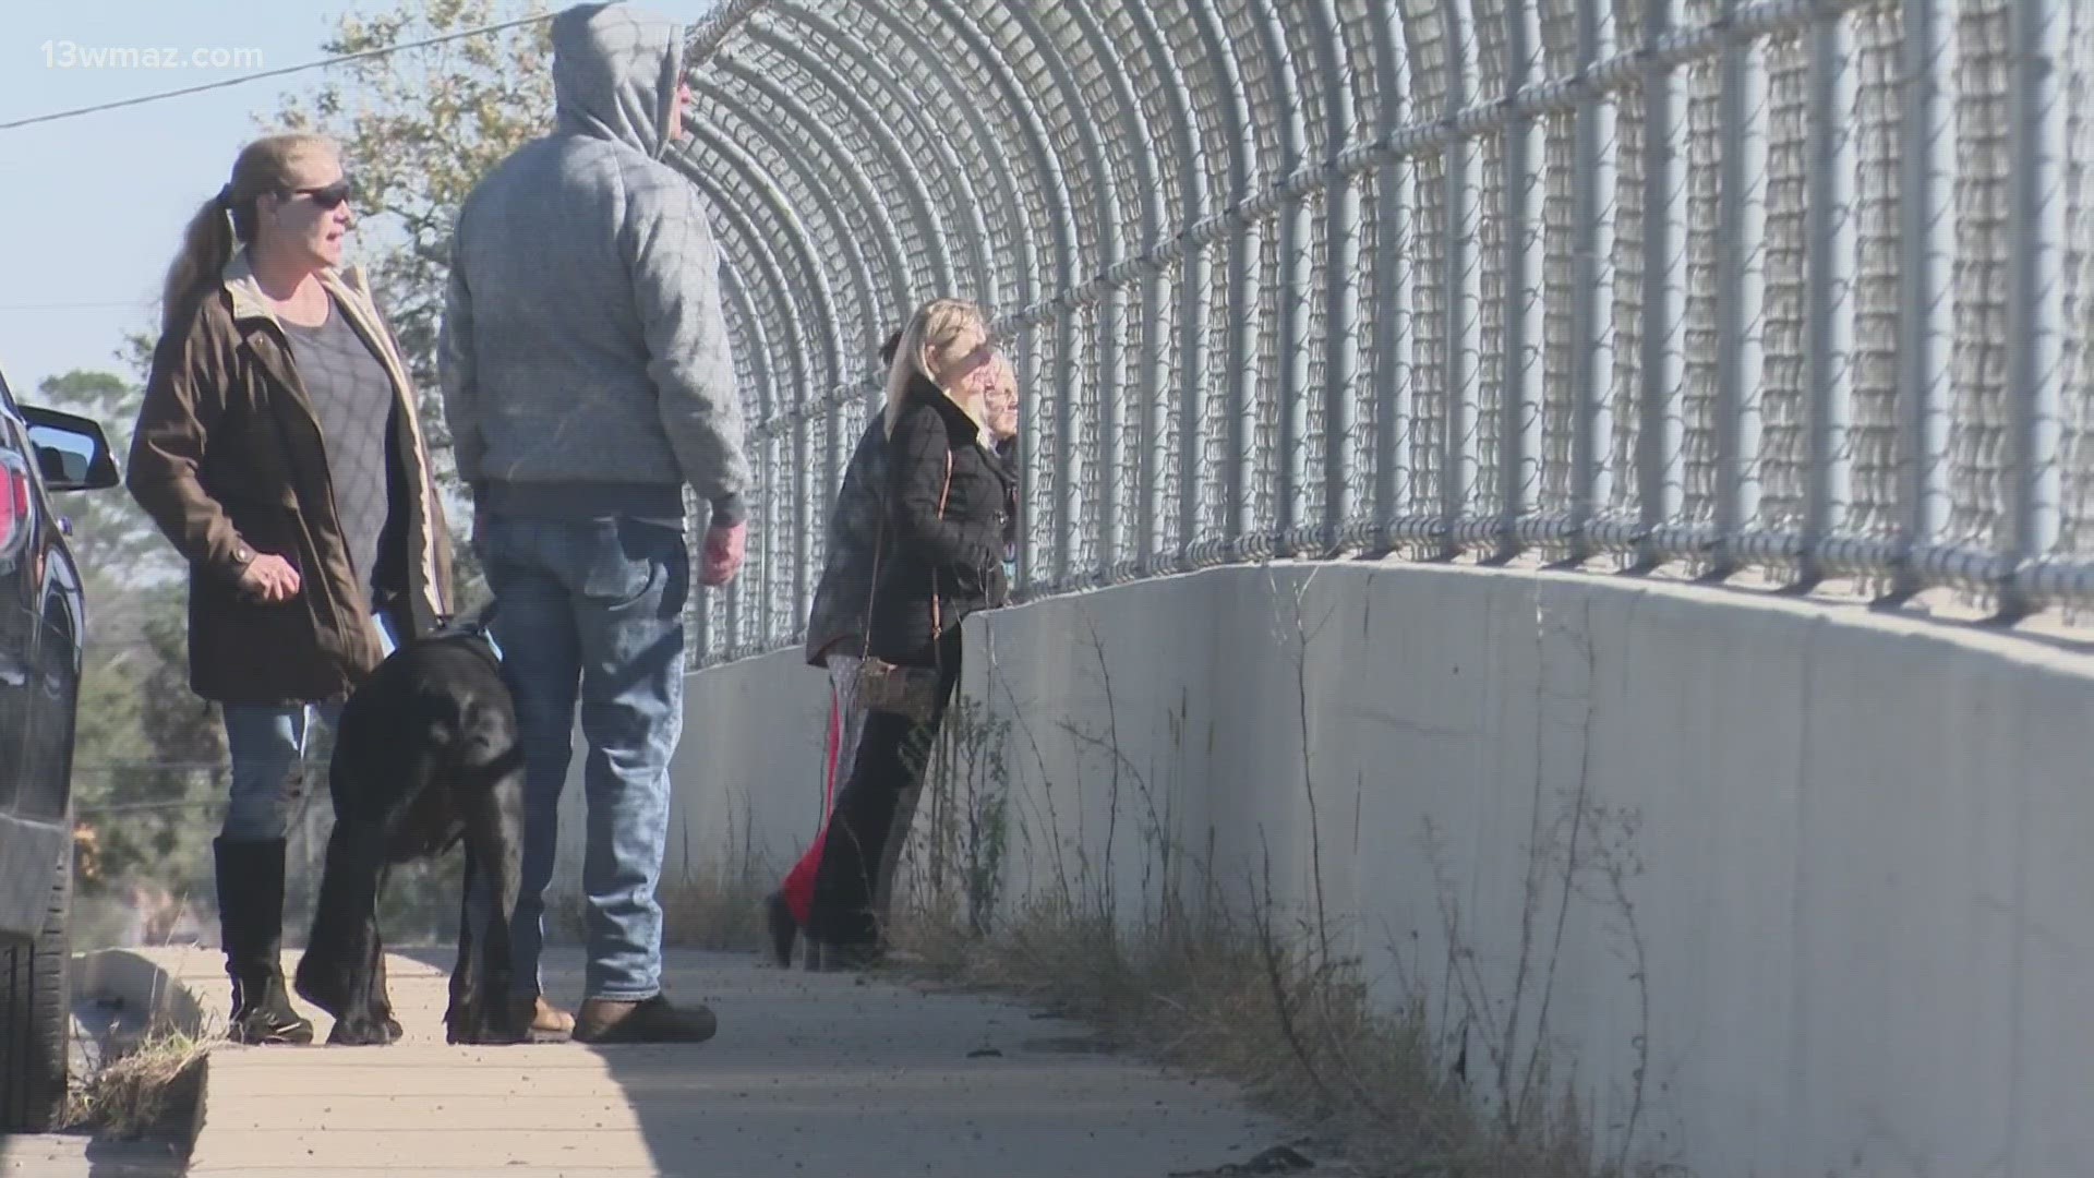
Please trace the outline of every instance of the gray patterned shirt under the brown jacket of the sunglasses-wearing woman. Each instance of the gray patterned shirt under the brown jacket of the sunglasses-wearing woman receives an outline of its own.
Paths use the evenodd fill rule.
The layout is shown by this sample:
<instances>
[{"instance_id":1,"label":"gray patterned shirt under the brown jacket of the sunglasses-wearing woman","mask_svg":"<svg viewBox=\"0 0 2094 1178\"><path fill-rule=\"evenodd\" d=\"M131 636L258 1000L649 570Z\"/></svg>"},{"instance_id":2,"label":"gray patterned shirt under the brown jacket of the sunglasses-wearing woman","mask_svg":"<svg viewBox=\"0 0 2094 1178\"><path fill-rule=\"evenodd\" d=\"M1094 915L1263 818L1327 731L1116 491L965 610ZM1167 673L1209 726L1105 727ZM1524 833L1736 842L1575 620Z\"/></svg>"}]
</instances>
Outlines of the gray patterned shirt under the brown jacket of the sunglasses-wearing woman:
<instances>
[{"instance_id":1,"label":"gray patterned shirt under the brown jacket of the sunglasses-wearing woman","mask_svg":"<svg viewBox=\"0 0 2094 1178\"><path fill-rule=\"evenodd\" d=\"M389 509L385 455L394 419L392 379L333 298L327 323L283 327L297 358L297 375L320 419L341 539L356 566L356 583L369 595Z\"/></svg>"}]
</instances>

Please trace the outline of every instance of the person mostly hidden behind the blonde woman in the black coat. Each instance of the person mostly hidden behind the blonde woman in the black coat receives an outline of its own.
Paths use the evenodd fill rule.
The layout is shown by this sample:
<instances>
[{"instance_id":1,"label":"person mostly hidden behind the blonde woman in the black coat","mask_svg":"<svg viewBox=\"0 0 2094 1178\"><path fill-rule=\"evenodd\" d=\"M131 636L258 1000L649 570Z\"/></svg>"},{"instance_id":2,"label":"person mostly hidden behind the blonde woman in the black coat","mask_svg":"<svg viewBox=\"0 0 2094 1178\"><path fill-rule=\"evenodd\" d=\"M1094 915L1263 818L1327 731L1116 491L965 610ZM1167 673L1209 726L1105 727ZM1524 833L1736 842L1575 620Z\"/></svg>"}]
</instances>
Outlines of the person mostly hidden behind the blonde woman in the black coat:
<instances>
[{"instance_id":1,"label":"person mostly hidden behind the blonde woman in the black coat","mask_svg":"<svg viewBox=\"0 0 2094 1178\"><path fill-rule=\"evenodd\" d=\"M879 361L884 365L894 365L900 337L903 333L894 331L882 346ZM982 373L982 386L986 394L984 421L995 440L997 457L1009 463L1013 440L1018 438L1018 373L1011 369L1007 356L999 352L990 358ZM850 765L865 732L865 708L856 706L856 671L859 654L865 646L865 604L871 597L873 551L879 541L884 511L884 442L886 419L875 417L865 428L850 455L850 463L844 467L844 482L838 488L836 507L829 516L827 562L821 583L815 589L812 610L808 612L806 660L810 667L825 667L829 671L823 828L815 832L815 841L808 843L792 872L785 874L783 885L764 897L771 952L779 968L792 966L794 941L810 918L815 878L821 870L821 849L827 838L827 815L836 803L838 782L850 780ZM900 843L915 813L915 792L907 790L896 801L886 853L873 874L873 912L882 920L888 914ZM806 962L808 968L821 968L823 954L819 941L808 941Z\"/></svg>"}]
</instances>

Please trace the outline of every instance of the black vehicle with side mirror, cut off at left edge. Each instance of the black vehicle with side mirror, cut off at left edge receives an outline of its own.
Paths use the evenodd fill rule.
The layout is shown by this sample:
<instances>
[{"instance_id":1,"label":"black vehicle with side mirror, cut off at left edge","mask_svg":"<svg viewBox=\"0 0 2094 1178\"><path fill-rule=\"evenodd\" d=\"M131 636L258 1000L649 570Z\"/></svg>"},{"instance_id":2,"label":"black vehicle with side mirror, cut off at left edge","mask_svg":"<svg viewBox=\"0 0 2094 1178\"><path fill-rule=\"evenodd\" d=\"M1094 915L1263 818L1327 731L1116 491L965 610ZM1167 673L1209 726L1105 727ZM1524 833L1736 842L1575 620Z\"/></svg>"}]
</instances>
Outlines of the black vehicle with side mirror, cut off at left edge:
<instances>
[{"instance_id":1,"label":"black vehicle with side mirror, cut off at left edge","mask_svg":"<svg viewBox=\"0 0 2094 1178\"><path fill-rule=\"evenodd\" d=\"M65 1105L86 602L52 495L117 482L101 426L21 407L0 377L0 1132L42 1132Z\"/></svg>"}]
</instances>

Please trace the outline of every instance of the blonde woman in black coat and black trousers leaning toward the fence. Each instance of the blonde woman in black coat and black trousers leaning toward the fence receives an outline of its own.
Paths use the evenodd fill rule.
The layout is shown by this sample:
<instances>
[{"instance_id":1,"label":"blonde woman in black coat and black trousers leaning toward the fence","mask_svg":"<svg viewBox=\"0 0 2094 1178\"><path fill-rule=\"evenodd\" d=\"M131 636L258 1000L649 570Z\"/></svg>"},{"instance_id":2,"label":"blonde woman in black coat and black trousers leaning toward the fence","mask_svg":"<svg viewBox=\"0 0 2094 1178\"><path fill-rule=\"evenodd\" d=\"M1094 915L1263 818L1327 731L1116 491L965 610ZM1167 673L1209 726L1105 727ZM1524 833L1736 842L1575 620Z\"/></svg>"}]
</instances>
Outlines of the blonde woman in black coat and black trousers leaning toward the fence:
<instances>
[{"instance_id":1,"label":"blonde woman in black coat and black trousers leaning toward the fence","mask_svg":"<svg viewBox=\"0 0 2094 1178\"><path fill-rule=\"evenodd\" d=\"M959 681L959 623L1007 597L1016 476L988 430L993 356L982 312L936 300L911 317L888 369L884 514L861 652L934 671L936 692L921 723L888 711L865 717L806 920L827 966L877 954L877 876L898 803L921 784Z\"/></svg>"}]
</instances>

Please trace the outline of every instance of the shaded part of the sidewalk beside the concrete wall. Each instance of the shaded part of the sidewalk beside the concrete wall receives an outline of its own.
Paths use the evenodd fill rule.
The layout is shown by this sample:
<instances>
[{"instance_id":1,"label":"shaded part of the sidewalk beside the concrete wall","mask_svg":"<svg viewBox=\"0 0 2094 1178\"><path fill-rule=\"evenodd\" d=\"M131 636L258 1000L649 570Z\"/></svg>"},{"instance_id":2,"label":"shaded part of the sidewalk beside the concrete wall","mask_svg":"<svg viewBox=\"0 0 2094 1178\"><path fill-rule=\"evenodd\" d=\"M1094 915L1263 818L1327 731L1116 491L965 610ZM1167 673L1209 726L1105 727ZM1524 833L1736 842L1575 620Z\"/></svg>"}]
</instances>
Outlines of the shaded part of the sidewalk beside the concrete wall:
<instances>
[{"instance_id":1,"label":"shaded part of the sidewalk beside the concrete wall","mask_svg":"<svg viewBox=\"0 0 2094 1178\"><path fill-rule=\"evenodd\" d=\"M454 956L400 952L444 970ZM563 1008L580 1002L578 950L547 950L544 989ZM993 998L697 950L666 954L664 989L712 1006L718 1035L515 1048L597 1056L622 1103L607 1117L630 1117L660 1174L1160 1178L1286 1132L1227 1086L1072 1048L1093 1040L1087 1027Z\"/></svg>"}]
</instances>

